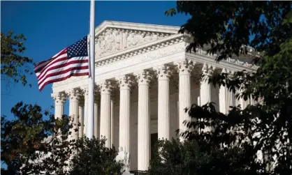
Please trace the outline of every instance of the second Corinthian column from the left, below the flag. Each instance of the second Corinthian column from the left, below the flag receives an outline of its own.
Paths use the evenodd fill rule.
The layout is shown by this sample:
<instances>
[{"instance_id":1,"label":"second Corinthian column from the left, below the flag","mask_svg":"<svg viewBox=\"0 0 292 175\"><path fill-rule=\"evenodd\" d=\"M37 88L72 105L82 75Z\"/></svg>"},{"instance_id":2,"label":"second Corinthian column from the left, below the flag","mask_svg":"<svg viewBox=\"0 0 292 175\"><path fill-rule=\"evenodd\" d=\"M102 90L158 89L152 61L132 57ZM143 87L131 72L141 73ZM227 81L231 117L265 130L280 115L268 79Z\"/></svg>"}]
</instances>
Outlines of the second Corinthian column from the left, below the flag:
<instances>
[{"instance_id":1,"label":"second Corinthian column from the left, below the flag","mask_svg":"<svg viewBox=\"0 0 292 175\"><path fill-rule=\"evenodd\" d=\"M70 89L68 91L69 97L69 116L73 118L73 128L71 129L72 139L78 139L78 102L80 99L79 89Z\"/></svg>"}]
</instances>

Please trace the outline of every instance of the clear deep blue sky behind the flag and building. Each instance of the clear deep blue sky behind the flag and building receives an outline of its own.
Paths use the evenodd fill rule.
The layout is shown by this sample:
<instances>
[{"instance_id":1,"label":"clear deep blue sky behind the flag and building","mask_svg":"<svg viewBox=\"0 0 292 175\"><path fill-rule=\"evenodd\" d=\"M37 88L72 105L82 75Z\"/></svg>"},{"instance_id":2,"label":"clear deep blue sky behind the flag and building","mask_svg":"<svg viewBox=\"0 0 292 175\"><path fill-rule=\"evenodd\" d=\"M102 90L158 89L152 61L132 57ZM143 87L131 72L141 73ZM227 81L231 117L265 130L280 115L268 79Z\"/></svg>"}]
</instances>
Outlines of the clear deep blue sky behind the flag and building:
<instances>
[{"instance_id":1,"label":"clear deep blue sky behind the flag and building","mask_svg":"<svg viewBox=\"0 0 292 175\"><path fill-rule=\"evenodd\" d=\"M187 16L166 17L175 1L96 1L95 26L105 20L181 26ZM90 1L1 1L1 32L12 29L27 37L25 56L36 63L50 59L89 33ZM9 91L1 82L1 115L13 119L11 107L17 102L38 104L50 109L52 84L38 91L35 75L27 75L32 84L12 84ZM53 110L52 110L53 112ZM65 108L68 114L68 102Z\"/></svg>"}]
</instances>

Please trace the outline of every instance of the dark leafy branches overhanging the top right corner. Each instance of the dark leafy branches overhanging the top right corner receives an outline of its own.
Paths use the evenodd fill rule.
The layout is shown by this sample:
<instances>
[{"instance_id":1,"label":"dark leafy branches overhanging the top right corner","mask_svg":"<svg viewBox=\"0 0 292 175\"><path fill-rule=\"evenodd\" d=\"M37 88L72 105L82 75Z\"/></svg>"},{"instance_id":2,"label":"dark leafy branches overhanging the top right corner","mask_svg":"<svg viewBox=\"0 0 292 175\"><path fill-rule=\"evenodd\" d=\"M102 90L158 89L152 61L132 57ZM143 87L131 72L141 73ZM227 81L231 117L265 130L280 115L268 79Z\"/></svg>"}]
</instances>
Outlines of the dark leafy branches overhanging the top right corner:
<instances>
[{"instance_id":1,"label":"dark leafy branches overhanging the top right corner","mask_svg":"<svg viewBox=\"0 0 292 175\"><path fill-rule=\"evenodd\" d=\"M210 45L208 52L220 52L221 60L247 53L242 45L277 54L279 45L291 37L291 21L282 24L290 11L291 1L177 1L166 15L190 15L180 30L193 36L188 50Z\"/></svg>"}]
</instances>

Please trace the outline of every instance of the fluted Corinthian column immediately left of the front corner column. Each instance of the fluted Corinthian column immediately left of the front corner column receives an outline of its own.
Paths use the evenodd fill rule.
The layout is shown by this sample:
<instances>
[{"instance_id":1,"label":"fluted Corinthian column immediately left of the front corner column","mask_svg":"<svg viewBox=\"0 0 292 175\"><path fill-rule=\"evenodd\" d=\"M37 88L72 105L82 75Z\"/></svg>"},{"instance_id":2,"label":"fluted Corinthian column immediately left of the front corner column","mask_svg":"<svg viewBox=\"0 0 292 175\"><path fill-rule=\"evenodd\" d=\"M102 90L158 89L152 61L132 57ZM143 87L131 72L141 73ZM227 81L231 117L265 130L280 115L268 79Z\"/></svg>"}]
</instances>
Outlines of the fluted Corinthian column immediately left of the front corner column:
<instances>
[{"instance_id":1,"label":"fluted Corinthian column immediately left of the front corner column","mask_svg":"<svg viewBox=\"0 0 292 175\"><path fill-rule=\"evenodd\" d=\"M158 139L170 139L169 127L169 77L170 68L162 65L154 68L158 77Z\"/></svg>"}]
</instances>

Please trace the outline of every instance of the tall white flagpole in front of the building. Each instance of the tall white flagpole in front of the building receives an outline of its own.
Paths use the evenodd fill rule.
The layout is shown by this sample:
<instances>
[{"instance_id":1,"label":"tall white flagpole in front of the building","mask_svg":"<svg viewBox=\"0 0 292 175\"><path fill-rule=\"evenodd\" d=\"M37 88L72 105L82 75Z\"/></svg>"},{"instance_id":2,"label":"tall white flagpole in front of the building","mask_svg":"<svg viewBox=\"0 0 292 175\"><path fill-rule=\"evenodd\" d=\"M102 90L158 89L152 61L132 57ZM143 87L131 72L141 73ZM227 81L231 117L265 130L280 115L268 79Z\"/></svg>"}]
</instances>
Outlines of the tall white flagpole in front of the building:
<instances>
[{"instance_id":1,"label":"tall white flagpole in front of the building","mask_svg":"<svg viewBox=\"0 0 292 175\"><path fill-rule=\"evenodd\" d=\"M94 136L94 0L90 1L90 45L89 45L89 80L88 80L88 116L87 116L87 132L86 137L92 139Z\"/></svg>"}]
</instances>

